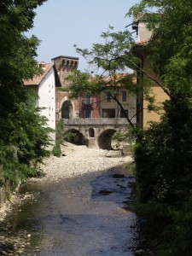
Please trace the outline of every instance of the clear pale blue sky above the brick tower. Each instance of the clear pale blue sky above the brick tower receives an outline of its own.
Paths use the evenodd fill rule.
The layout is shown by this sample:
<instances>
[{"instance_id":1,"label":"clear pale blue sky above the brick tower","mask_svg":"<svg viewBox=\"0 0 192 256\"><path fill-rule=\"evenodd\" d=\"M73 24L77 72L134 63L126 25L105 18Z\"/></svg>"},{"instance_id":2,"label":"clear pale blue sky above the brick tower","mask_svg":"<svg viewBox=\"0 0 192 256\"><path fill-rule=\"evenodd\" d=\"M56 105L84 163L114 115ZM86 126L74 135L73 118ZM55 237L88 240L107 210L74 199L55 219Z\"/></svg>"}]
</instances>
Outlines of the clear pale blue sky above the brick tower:
<instances>
[{"instance_id":1,"label":"clear pale blue sky above the brick tower","mask_svg":"<svg viewBox=\"0 0 192 256\"><path fill-rule=\"evenodd\" d=\"M48 0L36 12L30 34L36 35L38 61L51 62L58 55L79 57L79 69L87 64L73 47L91 49L92 44L102 43L100 35L113 26L124 31L132 18L125 18L128 10L140 0ZM131 29L131 28L130 28Z\"/></svg>"}]
</instances>

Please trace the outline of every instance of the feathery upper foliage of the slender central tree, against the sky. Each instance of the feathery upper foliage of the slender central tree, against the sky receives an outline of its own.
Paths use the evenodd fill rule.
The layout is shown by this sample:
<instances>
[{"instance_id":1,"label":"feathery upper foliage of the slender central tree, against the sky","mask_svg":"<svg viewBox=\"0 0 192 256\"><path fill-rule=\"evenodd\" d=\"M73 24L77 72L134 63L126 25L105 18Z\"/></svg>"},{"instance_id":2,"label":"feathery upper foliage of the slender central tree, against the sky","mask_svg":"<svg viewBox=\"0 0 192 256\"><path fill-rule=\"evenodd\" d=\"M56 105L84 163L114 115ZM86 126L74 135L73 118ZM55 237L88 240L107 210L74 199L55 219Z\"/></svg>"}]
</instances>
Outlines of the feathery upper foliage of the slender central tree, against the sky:
<instances>
[{"instance_id":1,"label":"feathery upper foliage of the slender central tree, against the sky","mask_svg":"<svg viewBox=\"0 0 192 256\"><path fill-rule=\"evenodd\" d=\"M134 41L130 32L113 32L113 29L113 26L109 26L107 32L102 32L101 38L104 44L93 44L90 50L76 48L90 64L94 73L108 75L113 72L123 72L127 67L128 63L119 57L125 56L125 51L130 51Z\"/></svg>"}]
</instances>

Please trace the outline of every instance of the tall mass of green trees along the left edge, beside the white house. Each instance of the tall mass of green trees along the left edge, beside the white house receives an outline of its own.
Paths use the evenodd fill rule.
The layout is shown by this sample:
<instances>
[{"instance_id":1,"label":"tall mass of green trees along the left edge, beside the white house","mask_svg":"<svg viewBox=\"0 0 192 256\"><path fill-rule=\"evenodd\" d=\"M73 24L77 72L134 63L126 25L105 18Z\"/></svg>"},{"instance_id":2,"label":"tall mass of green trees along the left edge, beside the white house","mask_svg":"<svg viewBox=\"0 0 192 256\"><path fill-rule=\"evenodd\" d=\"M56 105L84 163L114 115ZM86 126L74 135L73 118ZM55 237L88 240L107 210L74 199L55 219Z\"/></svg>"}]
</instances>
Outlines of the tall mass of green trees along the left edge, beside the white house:
<instances>
[{"instance_id":1,"label":"tall mass of green trees along the left edge, beside the white house","mask_svg":"<svg viewBox=\"0 0 192 256\"><path fill-rule=\"evenodd\" d=\"M23 81L41 73L35 57L38 38L26 37L35 9L45 0L0 3L0 161L1 184L35 175L49 145L49 128Z\"/></svg>"}]
</instances>

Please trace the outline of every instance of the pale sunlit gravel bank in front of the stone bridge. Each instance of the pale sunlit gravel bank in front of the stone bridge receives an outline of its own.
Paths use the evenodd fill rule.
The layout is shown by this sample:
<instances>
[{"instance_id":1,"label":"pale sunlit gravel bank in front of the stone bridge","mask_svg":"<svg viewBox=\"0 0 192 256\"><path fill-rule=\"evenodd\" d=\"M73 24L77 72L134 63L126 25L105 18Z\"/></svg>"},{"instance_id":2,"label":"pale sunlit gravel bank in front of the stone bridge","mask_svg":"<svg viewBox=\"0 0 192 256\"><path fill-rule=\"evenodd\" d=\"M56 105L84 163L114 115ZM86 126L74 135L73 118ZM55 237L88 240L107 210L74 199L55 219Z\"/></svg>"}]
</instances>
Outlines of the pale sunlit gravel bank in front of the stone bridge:
<instances>
[{"instance_id":1,"label":"pale sunlit gravel bank in front of the stone bridge","mask_svg":"<svg viewBox=\"0 0 192 256\"><path fill-rule=\"evenodd\" d=\"M77 177L84 173L100 172L130 162L131 156L121 155L119 150L87 148L65 143L61 158L51 156L41 166L45 177L43 182L55 182L66 177Z\"/></svg>"}]
</instances>

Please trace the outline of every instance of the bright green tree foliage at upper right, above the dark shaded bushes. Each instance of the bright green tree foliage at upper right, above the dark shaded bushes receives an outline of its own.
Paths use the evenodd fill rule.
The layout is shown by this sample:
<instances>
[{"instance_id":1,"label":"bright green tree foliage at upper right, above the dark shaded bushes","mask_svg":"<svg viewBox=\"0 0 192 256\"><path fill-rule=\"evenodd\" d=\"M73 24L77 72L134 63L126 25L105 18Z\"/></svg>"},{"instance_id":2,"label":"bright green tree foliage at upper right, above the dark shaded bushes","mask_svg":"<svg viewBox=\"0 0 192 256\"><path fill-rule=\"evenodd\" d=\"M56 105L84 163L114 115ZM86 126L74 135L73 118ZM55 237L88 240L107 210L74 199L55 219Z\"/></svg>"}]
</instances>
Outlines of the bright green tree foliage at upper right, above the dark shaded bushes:
<instances>
[{"instance_id":1,"label":"bright green tree foliage at upper right, above the dark shaded bushes","mask_svg":"<svg viewBox=\"0 0 192 256\"><path fill-rule=\"evenodd\" d=\"M148 44L153 52L152 67L172 96L191 97L191 9L190 0L143 0L128 13L146 21L153 31Z\"/></svg>"}]
</instances>

